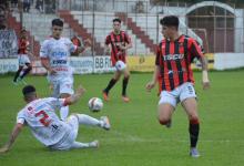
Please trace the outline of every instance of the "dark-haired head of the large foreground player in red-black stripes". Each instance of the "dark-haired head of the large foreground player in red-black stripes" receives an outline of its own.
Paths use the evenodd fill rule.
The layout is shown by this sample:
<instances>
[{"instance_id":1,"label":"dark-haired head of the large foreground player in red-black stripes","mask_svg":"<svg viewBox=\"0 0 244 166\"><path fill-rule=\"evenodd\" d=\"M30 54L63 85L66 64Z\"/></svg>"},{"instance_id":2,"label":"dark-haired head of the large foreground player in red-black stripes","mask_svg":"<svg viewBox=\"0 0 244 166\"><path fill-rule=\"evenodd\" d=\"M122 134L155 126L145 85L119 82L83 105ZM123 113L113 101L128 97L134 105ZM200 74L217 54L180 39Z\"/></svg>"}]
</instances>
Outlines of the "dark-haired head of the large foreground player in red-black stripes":
<instances>
[{"instance_id":1,"label":"dark-haired head of the large foreground player in red-black stripes","mask_svg":"<svg viewBox=\"0 0 244 166\"><path fill-rule=\"evenodd\" d=\"M165 38L172 38L179 30L179 18L175 15L166 15L160 20L162 33Z\"/></svg>"}]
</instances>

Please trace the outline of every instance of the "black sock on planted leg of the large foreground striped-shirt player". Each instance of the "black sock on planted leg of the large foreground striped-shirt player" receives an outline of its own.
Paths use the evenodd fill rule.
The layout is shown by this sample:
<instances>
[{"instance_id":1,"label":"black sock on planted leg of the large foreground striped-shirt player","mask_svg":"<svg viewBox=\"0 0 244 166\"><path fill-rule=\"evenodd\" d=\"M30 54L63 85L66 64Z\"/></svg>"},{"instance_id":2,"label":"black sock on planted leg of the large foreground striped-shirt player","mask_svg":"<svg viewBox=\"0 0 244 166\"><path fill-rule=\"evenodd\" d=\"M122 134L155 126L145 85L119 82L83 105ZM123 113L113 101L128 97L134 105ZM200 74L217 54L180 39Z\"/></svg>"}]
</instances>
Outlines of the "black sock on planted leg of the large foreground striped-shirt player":
<instances>
[{"instance_id":1,"label":"black sock on planted leg of the large foreground striped-shirt player","mask_svg":"<svg viewBox=\"0 0 244 166\"><path fill-rule=\"evenodd\" d=\"M189 133L190 133L190 141L191 147L196 147L199 141L199 133L200 133L200 124L199 121L191 121L189 124Z\"/></svg>"}]
</instances>

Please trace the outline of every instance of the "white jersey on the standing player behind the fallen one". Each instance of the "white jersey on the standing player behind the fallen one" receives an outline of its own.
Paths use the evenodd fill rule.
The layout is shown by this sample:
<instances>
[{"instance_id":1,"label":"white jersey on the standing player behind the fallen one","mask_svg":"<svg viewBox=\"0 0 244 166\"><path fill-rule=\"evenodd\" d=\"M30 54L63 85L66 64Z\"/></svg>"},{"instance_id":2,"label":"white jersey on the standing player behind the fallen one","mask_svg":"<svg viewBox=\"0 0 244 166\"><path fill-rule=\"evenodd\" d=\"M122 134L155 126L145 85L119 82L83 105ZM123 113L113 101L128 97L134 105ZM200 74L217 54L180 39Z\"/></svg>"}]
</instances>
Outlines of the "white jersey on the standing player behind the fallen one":
<instances>
[{"instance_id":1,"label":"white jersey on the standing player behind the fallen one","mask_svg":"<svg viewBox=\"0 0 244 166\"><path fill-rule=\"evenodd\" d=\"M42 43L40 56L48 58L51 68L57 72L57 74L50 75L51 79L72 75L69 56L75 50L77 46L68 38L60 38L59 40L50 38Z\"/></svg>"}]
</instances>

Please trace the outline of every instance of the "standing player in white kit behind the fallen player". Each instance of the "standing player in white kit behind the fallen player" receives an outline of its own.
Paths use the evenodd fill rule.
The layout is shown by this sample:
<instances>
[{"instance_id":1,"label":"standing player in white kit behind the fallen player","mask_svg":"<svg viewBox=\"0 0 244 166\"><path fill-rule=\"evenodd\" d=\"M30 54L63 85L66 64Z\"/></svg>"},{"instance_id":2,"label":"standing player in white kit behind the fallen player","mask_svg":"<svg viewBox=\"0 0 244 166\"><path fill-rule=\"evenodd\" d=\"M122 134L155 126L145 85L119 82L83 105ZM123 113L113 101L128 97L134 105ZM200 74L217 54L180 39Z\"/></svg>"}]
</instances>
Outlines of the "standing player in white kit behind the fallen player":
<instances>
[{"instance_id":1,"label":"standing player in white kit behind the fallen player","mask_svg":"<svg viewBox=\"0 0 244 166\"><path fill-rule=\"evenodd\" d=\"M48 80L53 89L53 97L68 97L73 94L73 72L69 64L71 52L83 52L89 46L89 40L84 48L74 45L70 39L62 38L63 21L52 20L52 37L43 42L40 50L41 63L48 71ZM63 106L60 117L68 117L69 107Z\"/></svg>"}]
</instances>

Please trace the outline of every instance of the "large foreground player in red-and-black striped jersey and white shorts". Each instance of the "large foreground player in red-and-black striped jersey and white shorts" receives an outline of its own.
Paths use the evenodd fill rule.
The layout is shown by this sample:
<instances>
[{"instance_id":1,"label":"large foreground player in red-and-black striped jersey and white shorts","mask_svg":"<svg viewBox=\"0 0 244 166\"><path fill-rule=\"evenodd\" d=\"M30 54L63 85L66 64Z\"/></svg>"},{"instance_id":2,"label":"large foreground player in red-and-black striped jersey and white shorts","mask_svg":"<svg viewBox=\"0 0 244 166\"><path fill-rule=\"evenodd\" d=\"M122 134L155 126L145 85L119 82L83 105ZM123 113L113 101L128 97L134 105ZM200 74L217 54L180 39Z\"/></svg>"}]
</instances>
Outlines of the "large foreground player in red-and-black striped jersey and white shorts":
<instances>
[{"instance_id":1,"label":"large foreground player in red-and-black striped jersey and white shorts","mask_svg":"<svg viewBox=\"0 0 244 166\"><path fill-rule=\"evenodd\" d=\"M195 56L202 63L204 90L210 87L207 61L194 39L184 34L180 35L177 17L166 15L161 19L160 23L165 39L157 46L154 74L152 81L146 84L146 90L150 91L159 82L159 122L166 127L171 126L172 114L176 104L181 102L189 117L190 155L199 157L196 143L200 132L200 117L191 60Z\"/></svg>"}]
</instances>

